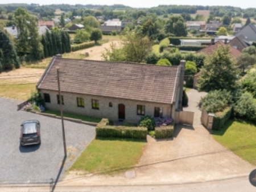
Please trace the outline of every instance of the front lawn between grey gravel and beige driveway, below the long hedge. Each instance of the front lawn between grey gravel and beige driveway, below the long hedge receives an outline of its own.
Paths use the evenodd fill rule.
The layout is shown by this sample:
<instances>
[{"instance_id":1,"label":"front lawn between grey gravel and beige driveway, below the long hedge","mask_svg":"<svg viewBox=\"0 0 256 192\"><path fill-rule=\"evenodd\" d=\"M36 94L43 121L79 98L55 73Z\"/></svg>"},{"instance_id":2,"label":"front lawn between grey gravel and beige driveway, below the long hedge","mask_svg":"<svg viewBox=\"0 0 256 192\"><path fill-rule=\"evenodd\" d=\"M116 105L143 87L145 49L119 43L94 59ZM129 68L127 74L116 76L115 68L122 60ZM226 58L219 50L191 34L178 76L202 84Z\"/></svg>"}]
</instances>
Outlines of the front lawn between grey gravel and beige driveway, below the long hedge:
<instances>
[{"instance_id":1,"label":"front lawn between grey gravel and beige driveway, below the long hedge","mask_svg":"<svg viewBox=\"0 0 256 192\"><path fill-rule=\"evenodd\" d=\"M96 138L69 170L111 174L133 168L145 144L143 140Z\"/></svg>"}]
</instances>

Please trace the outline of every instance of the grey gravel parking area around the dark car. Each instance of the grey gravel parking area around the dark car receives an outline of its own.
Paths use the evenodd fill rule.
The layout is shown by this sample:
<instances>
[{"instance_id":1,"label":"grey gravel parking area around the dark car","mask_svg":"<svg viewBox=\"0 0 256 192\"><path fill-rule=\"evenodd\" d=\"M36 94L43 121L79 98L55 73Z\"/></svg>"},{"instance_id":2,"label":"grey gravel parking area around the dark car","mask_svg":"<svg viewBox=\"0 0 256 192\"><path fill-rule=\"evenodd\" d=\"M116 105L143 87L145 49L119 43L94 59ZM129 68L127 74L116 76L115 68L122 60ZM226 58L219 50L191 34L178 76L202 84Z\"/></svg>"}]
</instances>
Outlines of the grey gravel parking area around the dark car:
<instances>
[{"instance_id":1,"label":"grey gravel parking area around the dark car","mask_svg":"<svg viewBox=\"0 0 256 192\"><path fill-rule=\"evenodd\" d=\"M17 111L18 103L0 97L0 184L56 180L64 157L61 120ZM20 124L27 119L39 120L42 144L20 147ZM85 124L64 121L64 125L68 158L60 179L96 134L94 127Z\"/></svg>"}]
</instances>

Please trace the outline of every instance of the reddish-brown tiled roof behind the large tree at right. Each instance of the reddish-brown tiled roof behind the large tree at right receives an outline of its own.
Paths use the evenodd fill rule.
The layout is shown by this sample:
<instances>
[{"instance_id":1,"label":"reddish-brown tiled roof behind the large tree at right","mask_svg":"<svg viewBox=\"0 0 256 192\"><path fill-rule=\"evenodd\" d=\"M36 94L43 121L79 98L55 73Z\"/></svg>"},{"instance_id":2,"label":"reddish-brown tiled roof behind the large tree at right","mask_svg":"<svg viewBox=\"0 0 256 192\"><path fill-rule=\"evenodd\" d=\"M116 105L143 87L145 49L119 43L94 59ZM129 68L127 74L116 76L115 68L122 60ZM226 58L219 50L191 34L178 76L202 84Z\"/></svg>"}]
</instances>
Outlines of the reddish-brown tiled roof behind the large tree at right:
<instances>
[{"instance_id":1,"label":"reddish-brown tiled roof behind the large tree at right","mask_svg":"<svg viewBox=\"0 0 256 192\"><path fill-rule=\"evenodd\" d=\"M212 55L212 53L218 48L218 46L229 46L230 54L233 57L237 57L241 55L241 51L231 47L230 45L226 45L223 41L217 41L213 45L209 45L208 47L200 49L196 53L205 53L206 55Z\"/></svg>"}]
</instances>

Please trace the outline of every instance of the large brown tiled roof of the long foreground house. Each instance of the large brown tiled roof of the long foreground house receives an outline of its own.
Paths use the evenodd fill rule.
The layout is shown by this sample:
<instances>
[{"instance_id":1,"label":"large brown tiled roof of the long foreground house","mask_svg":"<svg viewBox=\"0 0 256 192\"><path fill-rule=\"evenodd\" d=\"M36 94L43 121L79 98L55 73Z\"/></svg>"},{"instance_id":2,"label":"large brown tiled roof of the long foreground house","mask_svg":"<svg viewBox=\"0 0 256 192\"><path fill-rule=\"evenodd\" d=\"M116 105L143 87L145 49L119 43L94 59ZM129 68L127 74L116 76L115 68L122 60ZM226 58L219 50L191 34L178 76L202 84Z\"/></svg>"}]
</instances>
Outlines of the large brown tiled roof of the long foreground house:
<instances>
[{"instance_id":1,"label":"large brown tiled roof of the long foreground house","mask_svg":"<svg viewBox=\"0 0 256 192\"><path fill-rule=\"evenodd\" d=\"M53 57L38 89L171 104L179 66L156 66Z\"/></svg>"}]
</instances>

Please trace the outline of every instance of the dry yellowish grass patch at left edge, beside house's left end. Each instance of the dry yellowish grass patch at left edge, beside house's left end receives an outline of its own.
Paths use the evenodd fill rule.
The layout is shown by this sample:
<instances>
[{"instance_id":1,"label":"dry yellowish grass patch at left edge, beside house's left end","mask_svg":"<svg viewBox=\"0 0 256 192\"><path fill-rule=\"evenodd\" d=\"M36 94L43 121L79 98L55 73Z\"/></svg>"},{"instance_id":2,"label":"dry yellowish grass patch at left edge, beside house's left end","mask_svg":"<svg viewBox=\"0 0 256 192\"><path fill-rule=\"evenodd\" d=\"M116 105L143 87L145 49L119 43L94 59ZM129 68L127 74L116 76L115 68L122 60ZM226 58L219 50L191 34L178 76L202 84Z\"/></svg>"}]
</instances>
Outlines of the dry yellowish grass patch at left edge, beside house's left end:
<instances>
[{"instance_id":1,"label":"dry yellowish grass patch at left edge, beside house's left end","mask_svg":"<svg viewBox=\"0 0 256 192\"><path fill-rule=\"evenodd\" d=\"M35 90L36 84L0 85L0 97L26 101Z\"/></svg>"}]
</instances>

